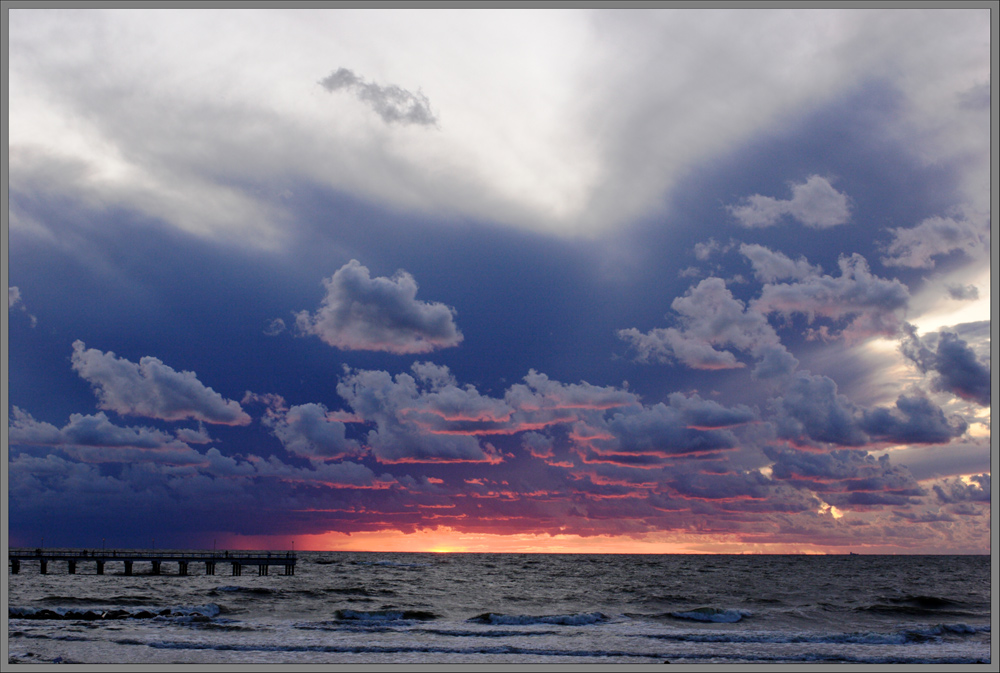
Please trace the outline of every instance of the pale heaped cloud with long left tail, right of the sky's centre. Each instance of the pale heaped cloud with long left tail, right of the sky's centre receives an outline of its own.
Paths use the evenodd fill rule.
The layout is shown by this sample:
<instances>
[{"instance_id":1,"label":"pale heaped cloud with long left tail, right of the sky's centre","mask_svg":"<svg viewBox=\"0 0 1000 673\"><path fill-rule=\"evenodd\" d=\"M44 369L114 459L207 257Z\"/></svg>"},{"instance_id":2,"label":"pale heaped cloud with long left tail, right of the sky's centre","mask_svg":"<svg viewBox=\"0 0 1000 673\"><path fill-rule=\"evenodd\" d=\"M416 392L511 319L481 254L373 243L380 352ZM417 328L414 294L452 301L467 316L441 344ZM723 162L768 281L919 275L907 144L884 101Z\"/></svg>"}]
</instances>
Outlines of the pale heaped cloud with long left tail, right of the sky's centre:
<instances>
[{"instance_id":1,"label":"pale heaped cloud with long left tail, right of the sky's centre","mask_svg":"<svg viewBox=\"0 0 1000 673\"><path fill-rule=\"evenodd\" d=\"M790 373L797 365L767 318L733 297L721 278L704 279L670 306L679 314L679 328L618 331L618 337L638 352L640 362L676 359L692 369L746 366L731 351L720 350L729 346L766 360L766 366L755 370L761 378Z\"/></svg>"}]
</instances>

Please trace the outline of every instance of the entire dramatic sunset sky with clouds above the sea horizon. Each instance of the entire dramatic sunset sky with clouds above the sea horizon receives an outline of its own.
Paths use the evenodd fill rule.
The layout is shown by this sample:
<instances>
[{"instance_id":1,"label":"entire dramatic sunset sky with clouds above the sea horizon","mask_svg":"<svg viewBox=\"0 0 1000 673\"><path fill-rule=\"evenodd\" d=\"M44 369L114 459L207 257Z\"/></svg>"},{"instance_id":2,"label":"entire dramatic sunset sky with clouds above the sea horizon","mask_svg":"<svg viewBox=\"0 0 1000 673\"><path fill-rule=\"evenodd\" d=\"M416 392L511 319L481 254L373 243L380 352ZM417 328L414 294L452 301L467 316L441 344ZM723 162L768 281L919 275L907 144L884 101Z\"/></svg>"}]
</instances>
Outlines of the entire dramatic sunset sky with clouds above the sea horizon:
<instances>
[{"instance_id":1,"label":"entire dramatic sunset sky with clouds above the sea horizon","mask_svg":"<svg viewBox=\"0 0 1000 673\"><path fill-rule=\"evenodd\" d=\"M989 551L988 9L9 29L10 544Z\"/></svg>"}]
</instances>

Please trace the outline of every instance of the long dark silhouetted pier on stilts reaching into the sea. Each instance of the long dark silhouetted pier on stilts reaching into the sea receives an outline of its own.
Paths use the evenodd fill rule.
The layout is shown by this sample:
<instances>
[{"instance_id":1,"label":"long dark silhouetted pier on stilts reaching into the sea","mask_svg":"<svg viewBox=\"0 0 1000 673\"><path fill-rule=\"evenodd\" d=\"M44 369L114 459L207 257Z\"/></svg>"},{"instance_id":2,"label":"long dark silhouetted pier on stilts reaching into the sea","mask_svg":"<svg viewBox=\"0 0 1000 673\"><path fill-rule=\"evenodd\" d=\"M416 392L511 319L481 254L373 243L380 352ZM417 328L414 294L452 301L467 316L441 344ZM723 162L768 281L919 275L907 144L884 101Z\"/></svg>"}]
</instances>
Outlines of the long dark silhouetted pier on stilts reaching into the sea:
<instances>
[{"instance_id":1,"label":"long dark silhouetted pier on stilts reaching into the sea","mask_svg":"<svg viewBox=\"0 0 1000 673\"><path fill-rule=\"evenodd\" d=\"M41 574L48 573L49 563L64 561L70 575L76 574L80 563L93 563L98 575L104 574L109 563L123 564L125 575L133 574L136 563L152 564L152 575L163 574L164 563L176 563L177 574L187 575L192 563L204 563L205 574L214 575L218 563L232 565L233 575L242 575L243 566L257 566L258 575L267 575L271 566L284 566L286 575L295 574L295 552L262 552L262 551L150 551L137 549L11 549L7 552L10 560L10 572L13 575L21 572L23 561L38 561Z\"/></svg>"}]
</instances>

